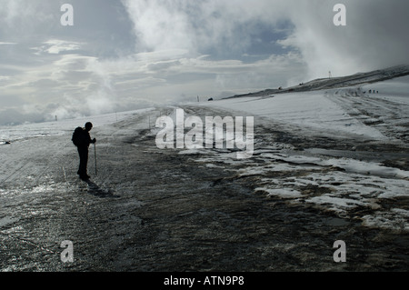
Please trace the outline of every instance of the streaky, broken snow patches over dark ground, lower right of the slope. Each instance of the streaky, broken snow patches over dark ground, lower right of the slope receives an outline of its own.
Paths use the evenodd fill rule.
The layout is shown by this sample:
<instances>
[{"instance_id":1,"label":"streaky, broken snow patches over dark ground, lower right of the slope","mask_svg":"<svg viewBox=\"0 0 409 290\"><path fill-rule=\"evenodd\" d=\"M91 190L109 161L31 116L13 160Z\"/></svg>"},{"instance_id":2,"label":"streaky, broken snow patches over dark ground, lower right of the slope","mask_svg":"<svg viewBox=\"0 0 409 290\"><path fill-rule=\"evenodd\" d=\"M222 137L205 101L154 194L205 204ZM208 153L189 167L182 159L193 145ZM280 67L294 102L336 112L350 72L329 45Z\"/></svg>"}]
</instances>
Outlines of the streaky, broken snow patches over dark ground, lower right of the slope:
<instances>
[{"instance_id":1,"label":"streaky, broken snow patches over dark ground, lower right of the slope","mask_svg":"<svg viewBox=\"0 0 409 290\"><path fill-rule=\"evenodd\" d=\"M201 155L195 162L208 168L224 166L240 182L254 185L254 193L312 205L341 218L361 220L365 226L408 230L405 205L390 209L384 201L409 199L409 172L374 161L292 150L255 152L253 158L238 161L213 151L214 155Z\"/></svg>"}]
</instances>

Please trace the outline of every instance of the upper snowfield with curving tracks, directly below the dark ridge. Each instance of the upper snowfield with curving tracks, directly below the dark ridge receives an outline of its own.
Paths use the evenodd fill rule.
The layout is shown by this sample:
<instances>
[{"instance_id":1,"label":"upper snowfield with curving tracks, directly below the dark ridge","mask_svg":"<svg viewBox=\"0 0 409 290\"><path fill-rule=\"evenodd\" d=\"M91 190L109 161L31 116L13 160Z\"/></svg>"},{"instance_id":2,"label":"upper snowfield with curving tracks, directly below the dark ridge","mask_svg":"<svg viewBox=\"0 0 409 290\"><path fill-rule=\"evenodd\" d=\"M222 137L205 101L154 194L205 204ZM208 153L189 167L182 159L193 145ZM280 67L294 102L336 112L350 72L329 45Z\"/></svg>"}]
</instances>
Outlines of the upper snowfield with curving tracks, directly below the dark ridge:
<instances>
[{"instance_id":1,"label":"upper snowfield with curving tracks, directly below the dark ridge","mask_svg":"<svg viewBox=\"0 0 409 290\"><path fill-rule=\"evenodd\" d=\"M380 75L383 76L384 71ZM380 75L377 77L380 78ZM368 80L368 76L365 80ZM378 93L369 94L370 90ZM312 130L314 134L334 135L336 132L338 135L384 140L387 137L381 132L383 130L379 130L379 126L367 124L378 122L385 127L406 125L409 122L409 76L366 85L258 97L234 97L205 105L243 111L245 114L267 117L274 122L302 126ZM372 112L375 109L377 111ZM365 112L370 113L364 115ZM406 126L402 130L407 131Z\"/></svg>"}]
</instances>

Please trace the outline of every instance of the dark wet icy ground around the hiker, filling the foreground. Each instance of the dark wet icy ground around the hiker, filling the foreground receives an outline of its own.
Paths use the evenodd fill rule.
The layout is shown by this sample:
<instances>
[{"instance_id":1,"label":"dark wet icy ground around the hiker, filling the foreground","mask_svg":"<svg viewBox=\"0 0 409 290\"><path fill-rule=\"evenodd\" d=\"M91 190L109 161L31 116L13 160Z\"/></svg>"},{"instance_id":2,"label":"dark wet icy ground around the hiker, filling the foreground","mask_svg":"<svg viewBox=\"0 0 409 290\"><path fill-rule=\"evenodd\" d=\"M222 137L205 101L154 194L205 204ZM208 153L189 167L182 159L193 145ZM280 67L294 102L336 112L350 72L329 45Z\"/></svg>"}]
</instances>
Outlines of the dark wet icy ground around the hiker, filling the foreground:
<instances>
[{"instance_id":1,"label":"dark wet icy ground around the hiker, filling the foreground","mask_svg":"<svg viewBox=\"0 0 409 290\"><path fill-rule=\"evenodd\" d=\"M185 111L231 114L195 106ZM311 201L338 191L346 195L347 179L334 177L348 172L317 159L301 164L293 158L323 161L335 152L352 157L358 148L371 159L387 151L396 154L388 158L389 165L407 170L407 159L396 158L407 154L406 148L302 135L295 127L289 131L261 120L254 128L254 158L238 162L229 150L158 149L155 131L146 127L147 114L164 111L95 127L98 171L95 175L91 147L87 183L75 175L70 130L1 147L3 155L15 156L1 165L2 271L407 270L407 219L392 227L364 223L364 216L396 205L407 210L407 197L376 195L377 206L331 210L331 205ZM254 168L264 170L256 175ZM354 178L370 182L367 176L348 176L349 183ZM285 184L300 195L275 195ZM61 260L65 240L73 243L73 263ZM346 244L345 263L334 262L337 240Z\"/></svg>"}]
</instances>

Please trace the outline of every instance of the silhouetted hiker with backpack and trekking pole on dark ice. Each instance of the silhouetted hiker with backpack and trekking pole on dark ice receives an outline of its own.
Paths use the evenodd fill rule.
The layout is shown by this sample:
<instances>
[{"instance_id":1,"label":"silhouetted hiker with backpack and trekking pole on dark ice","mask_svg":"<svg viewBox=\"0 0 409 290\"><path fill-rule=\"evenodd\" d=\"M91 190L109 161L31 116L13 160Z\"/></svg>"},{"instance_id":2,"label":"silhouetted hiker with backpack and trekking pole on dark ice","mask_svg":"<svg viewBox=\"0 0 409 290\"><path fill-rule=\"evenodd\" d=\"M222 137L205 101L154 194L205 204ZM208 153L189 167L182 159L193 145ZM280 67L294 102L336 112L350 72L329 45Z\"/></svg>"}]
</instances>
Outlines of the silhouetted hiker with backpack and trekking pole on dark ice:
<instances>
[{"instance_id":1,"label":"silhouetted hiker with backpack and trekking pole on dark ice","mask_svg":"<svg viewBox=\"0 0 409 290\"><path fill-rule=\"evenodd\" d=\"M88 164L88 148L91 143L95 144L96 142L96 139L91 140L91 136L89 135L89 131L91 131L92 128L93 125L90 122L85 124L85 128L77 127L72 139L78 149L78 155L80 157L77 175L79 175L82 180L88 180L90 178L86 169Z\"/></svg>"}]
</instances>

